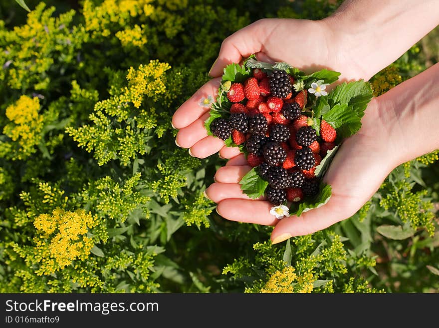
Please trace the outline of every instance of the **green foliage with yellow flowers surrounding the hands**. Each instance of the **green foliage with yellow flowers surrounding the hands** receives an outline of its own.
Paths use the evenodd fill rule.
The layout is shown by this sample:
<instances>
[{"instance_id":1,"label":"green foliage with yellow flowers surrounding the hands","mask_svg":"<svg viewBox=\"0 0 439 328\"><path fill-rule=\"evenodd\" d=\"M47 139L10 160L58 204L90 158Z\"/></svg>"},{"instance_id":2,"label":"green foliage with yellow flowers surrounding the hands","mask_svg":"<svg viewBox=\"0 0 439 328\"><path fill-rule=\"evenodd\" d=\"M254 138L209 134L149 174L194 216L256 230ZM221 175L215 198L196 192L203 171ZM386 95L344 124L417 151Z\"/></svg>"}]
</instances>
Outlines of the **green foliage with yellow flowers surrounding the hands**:
<instances>
[{"instance_id":1,"label":"green foliage with yellow flowers surrounding the hands","mask_svg":"<svg viewBox=\"0 0 439 328\"><path fill-rule=\"evenodd\" d=\"M272 228L224 220L203 196L223 162L174 144L172 114L226 36L340 1L25 2L28 14L0 4L0 292L439 290L438 151L394 170L351 219L271 245ZM435 35L378 73L374 94L437 61ZM332 108L322 99L315 116Z\"/></svg>"}]
</instances>

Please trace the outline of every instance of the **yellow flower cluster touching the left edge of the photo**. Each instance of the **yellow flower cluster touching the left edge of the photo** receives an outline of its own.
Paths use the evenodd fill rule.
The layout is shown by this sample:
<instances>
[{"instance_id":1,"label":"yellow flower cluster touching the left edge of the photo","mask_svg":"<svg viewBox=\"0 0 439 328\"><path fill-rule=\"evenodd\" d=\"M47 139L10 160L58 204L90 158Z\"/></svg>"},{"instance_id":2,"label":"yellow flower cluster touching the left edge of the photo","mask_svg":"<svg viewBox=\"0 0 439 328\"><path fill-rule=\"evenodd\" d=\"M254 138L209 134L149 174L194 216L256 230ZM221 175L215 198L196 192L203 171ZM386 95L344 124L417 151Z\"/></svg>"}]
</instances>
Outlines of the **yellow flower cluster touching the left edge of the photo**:
<instances>
[{"instance_id":1,"label":"yellow flower cluster touching the left edge of the photo","mask_svg":"<svg viewBox=\"0 0 439 328\"><path fill-rule=\"evenodd\" d=\"M4 126L3 133L12 142L0 143L0 156L22 160L36 151L34 146L41 141L43 129L43 116L38 113L39 109L39 99L26 95L6 108L10 123Z\"/></svg>"}]
</instances>

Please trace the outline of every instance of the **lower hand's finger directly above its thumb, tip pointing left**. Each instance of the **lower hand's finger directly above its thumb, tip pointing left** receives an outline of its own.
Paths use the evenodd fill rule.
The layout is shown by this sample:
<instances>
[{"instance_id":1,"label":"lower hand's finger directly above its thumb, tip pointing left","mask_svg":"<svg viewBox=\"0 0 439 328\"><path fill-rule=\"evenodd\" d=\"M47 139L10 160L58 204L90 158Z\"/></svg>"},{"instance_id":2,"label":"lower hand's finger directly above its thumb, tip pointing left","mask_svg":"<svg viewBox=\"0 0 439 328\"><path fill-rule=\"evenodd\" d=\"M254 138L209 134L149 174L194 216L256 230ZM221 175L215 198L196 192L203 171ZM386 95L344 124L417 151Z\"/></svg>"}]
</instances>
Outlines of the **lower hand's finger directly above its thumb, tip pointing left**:
<instances>
[{"instance_id":1,"label":"lower hand's finger directly above its thumb, tip pointing left","mask_svg":"<svg viewBox=\"0 0 439 328\"><path fill-rule=\"evenodd\" d=\"M279 220L270 214L271 207L272 205L267 201L224 199L219 202L217 212L230 221L274 226Z\"/></svg>"}]
</instances>

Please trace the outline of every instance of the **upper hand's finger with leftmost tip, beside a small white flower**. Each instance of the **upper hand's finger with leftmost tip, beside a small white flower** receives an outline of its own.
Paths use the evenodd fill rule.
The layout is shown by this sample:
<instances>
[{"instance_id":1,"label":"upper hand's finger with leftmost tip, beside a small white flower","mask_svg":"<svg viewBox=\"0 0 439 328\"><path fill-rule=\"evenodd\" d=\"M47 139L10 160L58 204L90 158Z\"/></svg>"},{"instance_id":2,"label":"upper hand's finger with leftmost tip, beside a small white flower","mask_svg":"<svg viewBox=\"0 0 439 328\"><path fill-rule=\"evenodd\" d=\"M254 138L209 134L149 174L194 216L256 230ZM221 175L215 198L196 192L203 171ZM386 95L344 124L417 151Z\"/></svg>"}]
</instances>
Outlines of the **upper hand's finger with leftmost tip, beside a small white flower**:
<instances>
[{"instance_id":1,"label":"upper hand's finger with leftmost tip, beside a small white flower","mask_svg":"<svg viewBox=\"0 0 439 328\"><path fill-rule=\"evenodd\" d=\"M210 80L198 89L191 98L186 100L174 113L174 116L172 117L172 126L176 129L184 128L207 112L210 109L210 106L203 105L201 102L204 99L215 100L220 80L220 78Z\"/></svg>"}]
</instances>

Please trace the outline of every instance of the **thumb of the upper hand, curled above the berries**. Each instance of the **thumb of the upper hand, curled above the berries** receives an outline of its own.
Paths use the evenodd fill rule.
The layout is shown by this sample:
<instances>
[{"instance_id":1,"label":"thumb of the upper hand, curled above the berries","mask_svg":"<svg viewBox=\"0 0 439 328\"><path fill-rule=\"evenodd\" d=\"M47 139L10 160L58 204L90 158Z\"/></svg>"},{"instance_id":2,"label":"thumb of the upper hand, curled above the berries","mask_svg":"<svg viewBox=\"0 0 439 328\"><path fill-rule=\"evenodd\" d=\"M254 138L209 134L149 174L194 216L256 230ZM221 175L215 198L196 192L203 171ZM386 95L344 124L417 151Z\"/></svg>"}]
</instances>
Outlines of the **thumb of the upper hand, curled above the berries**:
<instances>
[{"instance_id":1,"label":"thumb of the upper hand, curled above the berries","mask_svg":"<svg viewBox=\"0 0 439 328\"><path fill-rule=\"evenodd\" d=\"M242 57L261 51L262 41L271 31L267 28L269 24L269 20L261 19L228 36L221 44L218 58L209 75L220 76L226 65L238 63Z\"/></svg>"}]
</instances>

